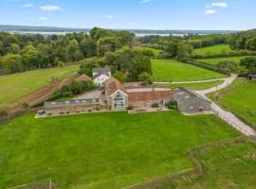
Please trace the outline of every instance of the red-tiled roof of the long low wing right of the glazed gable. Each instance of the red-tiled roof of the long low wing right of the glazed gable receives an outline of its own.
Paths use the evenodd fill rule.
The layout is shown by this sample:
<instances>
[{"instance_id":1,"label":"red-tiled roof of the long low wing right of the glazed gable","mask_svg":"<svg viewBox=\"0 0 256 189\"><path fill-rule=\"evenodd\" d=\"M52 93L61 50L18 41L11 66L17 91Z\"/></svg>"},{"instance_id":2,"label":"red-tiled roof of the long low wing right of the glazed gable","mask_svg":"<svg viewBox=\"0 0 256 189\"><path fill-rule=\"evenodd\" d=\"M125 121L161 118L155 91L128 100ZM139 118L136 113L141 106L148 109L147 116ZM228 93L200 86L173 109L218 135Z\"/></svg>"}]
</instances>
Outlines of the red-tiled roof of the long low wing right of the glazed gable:
<instances>
[{"instance_id":1,"label":"red-tiled roof of the long low wing right of the glazed gable","mask_svg":"<svg viewBox=\"0 0 256 189\"><path fill-rule=\"evenodd\" d=\"M147 100L161 100L172 99L174 91L151 91L151 92L133 92L129 93L129 101L147 101Z\"/></svg>"}]
</instances>

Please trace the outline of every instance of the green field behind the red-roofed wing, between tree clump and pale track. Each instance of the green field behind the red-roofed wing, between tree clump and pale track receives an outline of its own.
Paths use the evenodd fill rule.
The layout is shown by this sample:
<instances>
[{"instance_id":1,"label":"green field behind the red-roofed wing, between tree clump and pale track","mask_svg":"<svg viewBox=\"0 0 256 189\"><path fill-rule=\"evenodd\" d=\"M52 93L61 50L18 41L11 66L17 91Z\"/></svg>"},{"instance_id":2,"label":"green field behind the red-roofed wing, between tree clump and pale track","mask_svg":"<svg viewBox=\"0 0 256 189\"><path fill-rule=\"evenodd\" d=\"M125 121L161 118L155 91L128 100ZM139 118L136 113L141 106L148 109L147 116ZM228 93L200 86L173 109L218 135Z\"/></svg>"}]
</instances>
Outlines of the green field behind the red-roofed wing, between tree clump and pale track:
<instances>
[{"instance_id":1,"label":"green field behind the red-roofed wing, between tree clump and pale track","mask_svg":"<svg viewBox=\"0 0 256 189\"><path fill-rule=\"evenodd\" d=\"M152 60L153 80L185 81L224 77L223 75L176 60Z\"/></svg>"}]
</instances>

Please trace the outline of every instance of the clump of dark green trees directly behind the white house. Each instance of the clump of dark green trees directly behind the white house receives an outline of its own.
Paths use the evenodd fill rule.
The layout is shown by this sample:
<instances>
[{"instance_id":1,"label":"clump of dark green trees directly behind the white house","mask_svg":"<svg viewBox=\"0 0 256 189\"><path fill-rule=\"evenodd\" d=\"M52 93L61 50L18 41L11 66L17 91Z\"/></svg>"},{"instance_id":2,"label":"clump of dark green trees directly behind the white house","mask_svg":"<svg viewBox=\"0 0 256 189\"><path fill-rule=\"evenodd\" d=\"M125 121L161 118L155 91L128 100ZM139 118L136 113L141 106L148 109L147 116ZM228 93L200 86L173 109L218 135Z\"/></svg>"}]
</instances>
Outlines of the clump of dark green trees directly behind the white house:
<instances>
[{"instance_id":1,"label":"clump of dark green trees directly behind the white house","mask_svg":"<svg viewBox=\"0 0 256 189\"><path fill-rule=\"evenodd\" d=\"M111 67L113 76L120 81L145 81L152 76L148 51L129 46L106 52L103 57L84 60L79 73L92 77L92 69L96 67Z\"/></svg>"}]
</instances>

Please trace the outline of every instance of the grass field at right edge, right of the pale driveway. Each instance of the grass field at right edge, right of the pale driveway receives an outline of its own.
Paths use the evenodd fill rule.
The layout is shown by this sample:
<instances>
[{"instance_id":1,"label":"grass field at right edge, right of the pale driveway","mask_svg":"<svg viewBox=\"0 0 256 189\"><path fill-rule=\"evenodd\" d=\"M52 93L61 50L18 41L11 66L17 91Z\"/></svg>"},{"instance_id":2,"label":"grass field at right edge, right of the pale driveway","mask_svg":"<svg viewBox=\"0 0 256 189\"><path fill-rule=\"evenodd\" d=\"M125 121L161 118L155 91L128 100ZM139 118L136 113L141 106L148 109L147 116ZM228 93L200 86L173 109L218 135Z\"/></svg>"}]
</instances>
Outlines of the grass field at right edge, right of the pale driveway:
<instances>
[{"instance_id":1,"label":"grass field at right edge, right of the pale driveway","mask_svg":"<svg viewBox=\"0 0 256 189\"><path fill-rule=\"evenodd\" d=\"M256 129L256 82L237 79L228 88L210 94L210 98L246 120Z\"/></svg>"}]
</instances>

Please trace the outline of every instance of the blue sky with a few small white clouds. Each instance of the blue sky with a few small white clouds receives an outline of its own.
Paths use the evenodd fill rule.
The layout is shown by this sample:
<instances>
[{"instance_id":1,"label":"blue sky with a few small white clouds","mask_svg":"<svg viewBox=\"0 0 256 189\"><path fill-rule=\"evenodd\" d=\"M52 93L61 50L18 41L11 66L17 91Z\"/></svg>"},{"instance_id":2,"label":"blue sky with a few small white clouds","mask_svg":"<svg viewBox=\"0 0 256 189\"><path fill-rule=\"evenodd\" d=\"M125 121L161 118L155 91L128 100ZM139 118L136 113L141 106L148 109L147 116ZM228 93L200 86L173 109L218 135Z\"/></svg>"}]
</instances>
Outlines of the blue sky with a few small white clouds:
<instances>
[{"instance_id":1,"label":"blue sky with a few small white clouds","mask_svg":"<svg viewBox=\"0 0 256 189\"><path fill-rule=\"evenodd\" d=\"M244 30L256 0L0 0L0 25Z\"/></svg>"}]
</instances>

